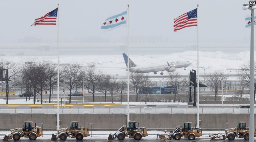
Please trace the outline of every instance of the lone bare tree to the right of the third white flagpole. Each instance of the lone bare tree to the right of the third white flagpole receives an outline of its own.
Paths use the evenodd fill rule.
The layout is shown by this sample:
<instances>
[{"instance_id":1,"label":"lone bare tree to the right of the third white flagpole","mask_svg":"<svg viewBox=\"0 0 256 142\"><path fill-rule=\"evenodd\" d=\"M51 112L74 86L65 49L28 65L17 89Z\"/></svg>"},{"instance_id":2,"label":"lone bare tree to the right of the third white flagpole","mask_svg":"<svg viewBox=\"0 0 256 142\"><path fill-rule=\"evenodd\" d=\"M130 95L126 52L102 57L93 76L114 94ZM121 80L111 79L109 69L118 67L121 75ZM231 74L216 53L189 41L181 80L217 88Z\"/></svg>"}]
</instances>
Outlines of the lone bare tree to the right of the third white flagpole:
<instances>
[{"instance_id":1,"label":"lone bare tree to the right of the third white flagpole","mask_svg":"<svg viewBox=\"0 0 256 142\"><path fill-rule=\"evenodd\" d=\"M215 101L217 101L218 91L221 90L221 82L226 80L228 75L225 75L222 70L216 70L213 73L206 74L204 77L207 86L211 86L215 90Z\"/></svg>"}]
</instances>

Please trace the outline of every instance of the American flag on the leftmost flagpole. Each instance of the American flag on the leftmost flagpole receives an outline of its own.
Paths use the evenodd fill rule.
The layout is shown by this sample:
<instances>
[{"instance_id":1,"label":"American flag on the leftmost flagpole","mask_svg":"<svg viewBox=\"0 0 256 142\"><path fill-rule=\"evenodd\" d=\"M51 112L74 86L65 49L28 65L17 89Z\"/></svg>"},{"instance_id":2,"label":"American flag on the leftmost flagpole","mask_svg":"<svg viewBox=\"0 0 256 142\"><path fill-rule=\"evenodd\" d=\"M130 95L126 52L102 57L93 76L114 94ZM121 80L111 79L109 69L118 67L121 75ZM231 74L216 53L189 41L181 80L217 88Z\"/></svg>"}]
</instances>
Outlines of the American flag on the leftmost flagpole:
<instances>
[{"instance_id":1,"label":"American flag on the leftmost flagpole","mask_svg":"<svg viewBox=\"0 0 256 142\"><path fill-rule=\"evenodd\" d=\"M36 25L56 25L57 14L58 14L58 8L45 14L41 18L35 19L35 23L33 25L34 26L36 26ZM31 25L31 26L33 26L33 25Z\"/></svg>"}]
</instances>

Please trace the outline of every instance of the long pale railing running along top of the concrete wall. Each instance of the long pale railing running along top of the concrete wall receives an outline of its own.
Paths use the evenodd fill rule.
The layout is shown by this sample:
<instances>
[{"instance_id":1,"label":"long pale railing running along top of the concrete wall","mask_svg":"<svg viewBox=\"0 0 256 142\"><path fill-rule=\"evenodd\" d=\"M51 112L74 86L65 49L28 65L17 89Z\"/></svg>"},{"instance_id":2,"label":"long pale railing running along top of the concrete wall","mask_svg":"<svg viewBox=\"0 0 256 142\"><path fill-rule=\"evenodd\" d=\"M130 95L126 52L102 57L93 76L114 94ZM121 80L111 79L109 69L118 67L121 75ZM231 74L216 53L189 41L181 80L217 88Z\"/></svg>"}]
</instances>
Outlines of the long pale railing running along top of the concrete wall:
<instances>
[{"instance_id":1,"label":"long pale railing running along top of the concrete wall","mask_svg":"<svg viewBox=\"0 0 256 142\"><path fill-rule=\"evenodd\" d=\"M249 113L249 108L200 108L200 113ZM0 114L55 114L56 108L1 108ZM60 108L59 113L127 113L127 108ZM130 108L130 113L197 113L197 108ZM256 108L254 108L256 113Z\"/></svg>"}]
</instances>

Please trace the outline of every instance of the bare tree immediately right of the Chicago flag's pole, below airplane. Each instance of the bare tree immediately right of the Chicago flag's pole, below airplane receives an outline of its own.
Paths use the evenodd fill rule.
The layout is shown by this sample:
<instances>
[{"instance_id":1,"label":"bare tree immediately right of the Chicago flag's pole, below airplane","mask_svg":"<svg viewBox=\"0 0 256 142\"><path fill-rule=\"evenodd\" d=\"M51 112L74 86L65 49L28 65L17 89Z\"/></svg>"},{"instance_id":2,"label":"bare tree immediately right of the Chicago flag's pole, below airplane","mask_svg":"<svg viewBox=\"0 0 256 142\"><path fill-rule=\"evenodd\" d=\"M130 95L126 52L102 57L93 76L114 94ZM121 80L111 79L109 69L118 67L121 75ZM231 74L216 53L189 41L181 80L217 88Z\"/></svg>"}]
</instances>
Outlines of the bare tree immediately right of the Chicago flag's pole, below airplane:
<instances>
[{"instance_id":1,"label":"bare tree immediately right of the Chicago flag's pole, below airplane","mask_svg":"<svg viewBox=\"0 0 256 142\"><path fill-rule=\"evenodd\" d=\"M130 73L131 80L134 85L134 89L136 91L136 102L138 102L138 94L139 94L139 87L143 81L143 73L140 70L136 70Z\"/></svg>"}]
</instances>

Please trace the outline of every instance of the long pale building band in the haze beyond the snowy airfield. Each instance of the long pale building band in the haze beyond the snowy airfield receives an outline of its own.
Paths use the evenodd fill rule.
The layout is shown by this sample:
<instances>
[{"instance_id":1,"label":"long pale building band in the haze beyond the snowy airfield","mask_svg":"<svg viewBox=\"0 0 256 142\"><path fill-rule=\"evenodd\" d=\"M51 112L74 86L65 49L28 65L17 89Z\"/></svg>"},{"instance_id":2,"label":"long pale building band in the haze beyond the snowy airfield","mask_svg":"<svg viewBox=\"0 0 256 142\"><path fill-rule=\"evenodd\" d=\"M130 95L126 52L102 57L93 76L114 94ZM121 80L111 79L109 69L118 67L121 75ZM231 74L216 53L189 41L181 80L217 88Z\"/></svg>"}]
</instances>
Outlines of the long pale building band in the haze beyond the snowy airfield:
<instances>
[{"instance_id":1,"label":"long pale building band in the haze beyond the snowy airfield","mask_svg":"<svg viewBox=\"0 0 256 142\"><path fill-rule=\"evenodd\" d=\"M126 44L121 43L59 43L60 55L88 55L88 54L121 54L126 52ZM5 55L56 55L57 43L0 43L0 56ZM168 43L131 43L129 53L151 54L156 51L163 54L179 53L197 50L196 44L168 44ZM239 53L250 51L246 44L199 44L199 51L223 51Z\"/></svg>"}]
</instances>

